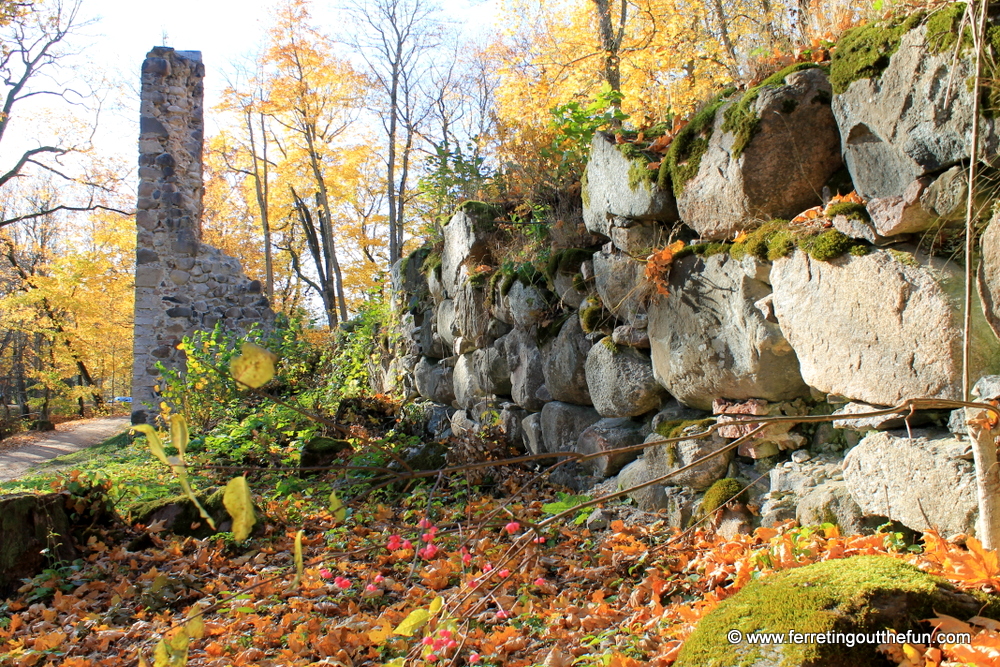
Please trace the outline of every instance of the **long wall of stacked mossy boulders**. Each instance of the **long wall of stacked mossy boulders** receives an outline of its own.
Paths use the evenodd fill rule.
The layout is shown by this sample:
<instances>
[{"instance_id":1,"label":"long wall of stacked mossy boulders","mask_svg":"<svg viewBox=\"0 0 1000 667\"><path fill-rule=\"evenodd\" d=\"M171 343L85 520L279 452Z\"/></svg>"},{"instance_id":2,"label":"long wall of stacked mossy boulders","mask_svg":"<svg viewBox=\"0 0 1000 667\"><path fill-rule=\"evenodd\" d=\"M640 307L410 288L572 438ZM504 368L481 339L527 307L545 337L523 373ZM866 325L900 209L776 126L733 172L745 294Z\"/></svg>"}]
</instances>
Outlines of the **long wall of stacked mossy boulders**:
<instances>
[{"instance_id":1,"label":"long wall of stacked mossy boulders","mask_svg":"<svg viewBox=\"0 0 1000 667\"><path fill-rule=\"evenodd\" d=\"M722 516L730 530L796 518L850 532L887 519L973 530L961 415L852 416L907 398L961 398L961 258L941 248L961 240L971 105L958 86L941 113L943 88L928 96L923 79L900 74L948 79L952 56L929 48L924 31L904 37L909 48L881 81L834 92L822 68L804 64L718 100L714 116L709 107L675 139L685 153L598 134L583 179L586 229L567 247L573 225L560 221L534 268L511 271L493 256L504 243L499 210L464 205L442 244L394 267L403 343L390 380L427 401L427 414L451 415L437 420L441 439L499 425L532 453L601 454L560 478L580 490L659 478L749 432L725 426L708 439L657 442L700 431L699 420L835 413L833 424L772 426L633 499L683 526L706 490L735 478L750 490ZM967 65L960 59L959 74ZM873 86L910 103L881 105L866 92ZM884 127L898 121L907 135L879 129L895 148L861 159L858 127L876 131L875 108ZM727 125L727 110L754 131ZM933 153L942 133L957 137L947 154L919 169L903 160ZM666 174L647 169L661 160ZM898 178L873 184L885 174ZM831 201L838 188L873 194ZM651 280L647 257L677 238L685 248L659 275L654 263ZM991 375L1000 344L987 324L1000 330L998 239L1000 216L983 239L987 314L977 303L973 316L982 399L1000 395ZM641 442L641 455L618 451Z\"/></svg>"}]
</instances>

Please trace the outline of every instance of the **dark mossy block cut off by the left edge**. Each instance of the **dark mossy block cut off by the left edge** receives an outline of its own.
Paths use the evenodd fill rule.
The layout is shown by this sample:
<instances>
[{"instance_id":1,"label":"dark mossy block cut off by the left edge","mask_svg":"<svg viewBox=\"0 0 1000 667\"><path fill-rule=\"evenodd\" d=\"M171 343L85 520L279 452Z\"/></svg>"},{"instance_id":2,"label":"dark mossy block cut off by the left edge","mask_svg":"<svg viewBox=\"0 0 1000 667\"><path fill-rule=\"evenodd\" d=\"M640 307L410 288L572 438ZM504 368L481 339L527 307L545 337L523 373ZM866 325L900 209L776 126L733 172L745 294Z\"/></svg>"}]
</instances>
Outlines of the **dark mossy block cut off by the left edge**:
<instances>
[{"instance_id":1,"label":"dark mossy block cut off by the left edge","mask_svg":"<svg viewBox=\"0 0 1000 667\"><path fill-rule=\"evenodd\" d=\"M0 497L0 597L47 564L74 558L65 494Z\"/></svg>"}]
</instances>

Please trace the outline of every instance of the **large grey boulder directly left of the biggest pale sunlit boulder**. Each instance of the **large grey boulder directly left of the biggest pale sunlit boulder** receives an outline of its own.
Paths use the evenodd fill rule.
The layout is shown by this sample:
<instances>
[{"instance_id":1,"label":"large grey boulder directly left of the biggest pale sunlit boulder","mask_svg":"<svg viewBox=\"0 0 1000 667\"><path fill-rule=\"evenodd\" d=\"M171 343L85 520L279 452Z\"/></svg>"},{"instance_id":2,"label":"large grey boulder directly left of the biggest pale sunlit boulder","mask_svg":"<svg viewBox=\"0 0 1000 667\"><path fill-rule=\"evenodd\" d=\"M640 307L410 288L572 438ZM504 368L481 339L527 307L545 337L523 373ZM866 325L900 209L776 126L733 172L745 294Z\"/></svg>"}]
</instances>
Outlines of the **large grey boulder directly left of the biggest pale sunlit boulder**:
<instances>
[{"instance_id":1,"label":"large grey boulder directly left of the biggest pale sunlit boulder","mask_svg":"<svg viewBox=\"0 0 1000 667\"><path fill-rule=\"evenodd\" d=\"M710 410L717 398L781 401L808 394L799 361L770 313L766 266L728 255L684 257L669 296L649 311L653 372L675 398Z\"/></svg>"}]
</instances>

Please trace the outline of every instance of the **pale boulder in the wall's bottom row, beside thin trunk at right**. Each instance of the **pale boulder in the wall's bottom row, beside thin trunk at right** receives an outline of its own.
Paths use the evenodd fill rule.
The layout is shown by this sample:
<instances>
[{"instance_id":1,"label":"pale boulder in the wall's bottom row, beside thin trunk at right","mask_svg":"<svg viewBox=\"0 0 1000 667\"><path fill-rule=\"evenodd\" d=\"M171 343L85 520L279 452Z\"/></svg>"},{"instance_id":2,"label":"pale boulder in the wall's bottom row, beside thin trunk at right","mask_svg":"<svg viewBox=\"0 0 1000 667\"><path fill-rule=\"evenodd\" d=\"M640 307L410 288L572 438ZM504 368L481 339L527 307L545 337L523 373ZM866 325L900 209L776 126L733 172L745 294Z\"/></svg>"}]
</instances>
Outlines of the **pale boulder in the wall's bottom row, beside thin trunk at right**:
<instances>
[{"instance_id":1,"label":"pale boulder in the wall's bottom row, beside thin trunk at right","mask_svg":"<svg viewBox=\"0 0 1000 667\"><path fill-rule=\"evenodd\" d=\"M971 534L979 511L971 459L968 443L950 435L874 432L847 453L844 481L866 515L946 536Z\"/></svg>"}]
</instances>

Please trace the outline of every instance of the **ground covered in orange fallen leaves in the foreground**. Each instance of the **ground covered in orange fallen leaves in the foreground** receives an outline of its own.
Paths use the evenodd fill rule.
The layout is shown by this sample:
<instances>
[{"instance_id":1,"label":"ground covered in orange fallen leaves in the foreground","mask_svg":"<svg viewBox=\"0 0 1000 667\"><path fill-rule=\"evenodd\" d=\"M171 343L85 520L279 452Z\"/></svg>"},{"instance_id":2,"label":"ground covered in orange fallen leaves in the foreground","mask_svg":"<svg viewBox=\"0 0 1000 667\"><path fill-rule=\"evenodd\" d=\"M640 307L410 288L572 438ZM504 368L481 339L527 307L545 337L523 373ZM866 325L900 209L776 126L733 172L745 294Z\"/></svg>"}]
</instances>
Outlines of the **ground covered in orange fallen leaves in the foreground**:
<instances>
[{"instance_id":1,"label":"ground covered in orange fallen leaves in the foreground","mask_svg":"<svg viewBox=\"0 0 1000 667\"><path fill-rule=\"evenodd\" d=\"M896 534L844 537L829 525L728 540L655 519L536 532L552 494L511 502L470 491L440 483L351 503L346 520L303 494L258 499L266 525L244 543L157 526L132 549L94 535L81 561L0 603L0 665L669 665L704 614L770 571L886 554L962 587L1000 589L996 554L972 539L930 533L913 553ZM304 572L293 587L299 528ZM154 653L192 616L199 638ZM1000 664L995 622L937 624L974 641L890 657Z\"/></svg>"}]
</instances>

